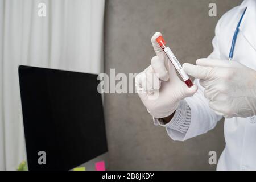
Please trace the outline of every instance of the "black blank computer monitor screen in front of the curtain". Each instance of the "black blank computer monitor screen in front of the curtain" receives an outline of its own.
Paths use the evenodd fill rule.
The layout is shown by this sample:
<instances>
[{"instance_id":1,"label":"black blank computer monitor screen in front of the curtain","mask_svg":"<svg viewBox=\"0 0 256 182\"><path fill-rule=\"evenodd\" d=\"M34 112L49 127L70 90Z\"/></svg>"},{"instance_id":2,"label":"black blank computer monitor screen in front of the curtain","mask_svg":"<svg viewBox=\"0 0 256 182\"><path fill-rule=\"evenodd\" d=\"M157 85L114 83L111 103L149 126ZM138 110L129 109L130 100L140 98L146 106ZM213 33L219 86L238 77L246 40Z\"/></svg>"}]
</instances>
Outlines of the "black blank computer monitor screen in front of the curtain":
<instances>
[{"instance_id":1,"label":"black blank computer monitor screen in front of the curtain","mask_svg":"<svg viewBox=\"0 0 256 182\"><path fill-rule=\"evenodd\" d=\"M20 66L19 82L30 170L69 170L108 151L97 75Z\"/></svg>"}]
</instances>

